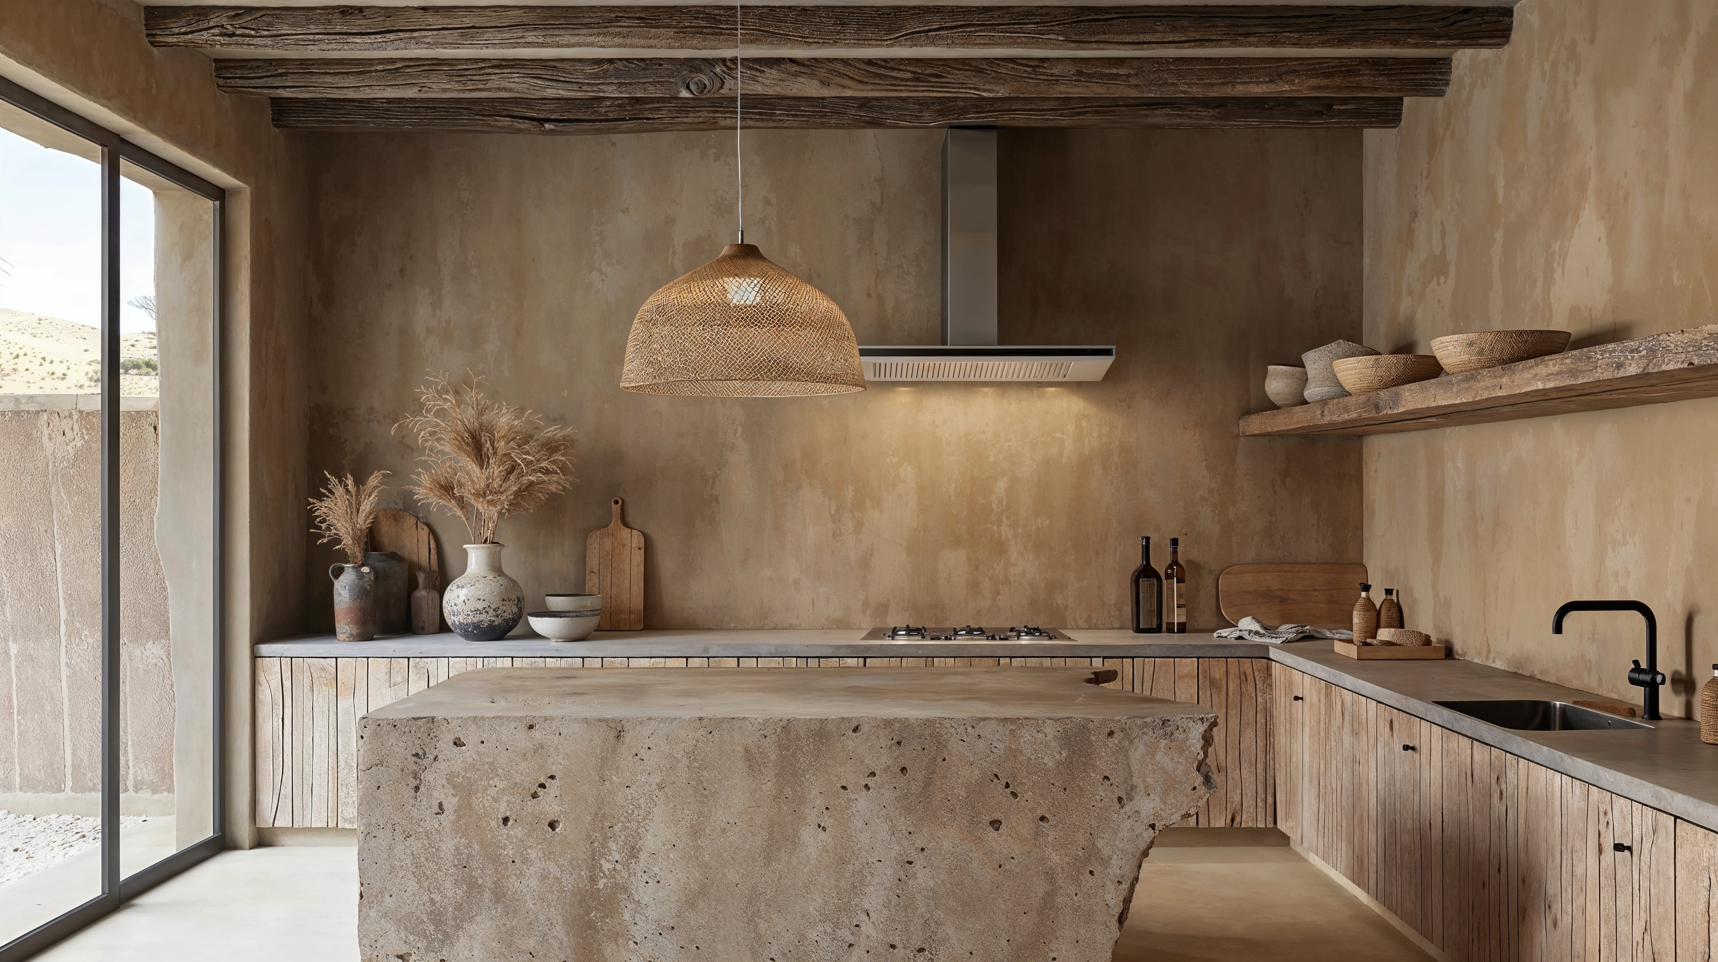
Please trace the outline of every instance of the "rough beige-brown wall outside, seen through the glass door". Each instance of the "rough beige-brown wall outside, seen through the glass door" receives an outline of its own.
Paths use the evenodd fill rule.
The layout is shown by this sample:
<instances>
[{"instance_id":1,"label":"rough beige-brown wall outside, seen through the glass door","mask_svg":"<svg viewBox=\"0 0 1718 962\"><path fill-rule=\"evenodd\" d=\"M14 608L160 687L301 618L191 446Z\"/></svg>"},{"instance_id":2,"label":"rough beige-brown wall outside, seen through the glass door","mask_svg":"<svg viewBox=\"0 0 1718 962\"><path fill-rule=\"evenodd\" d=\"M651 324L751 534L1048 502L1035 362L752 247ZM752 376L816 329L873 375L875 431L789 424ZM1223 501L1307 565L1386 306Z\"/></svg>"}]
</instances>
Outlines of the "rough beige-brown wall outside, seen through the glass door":
<instances>
[{"instance_id":1,"label":"rough beige-brown wall outside, seen through the glass door","mask_svg":"<svg viewBox=\"0 0 1718 962\"><path fill-rule=\"evenodd\" d=\"M151 399L153 400L153 399ZM0 411L0 809L100 814L100 411ZM174 814L156 411L120 411L120 792Z\"/></svg>"}]
</instances>

